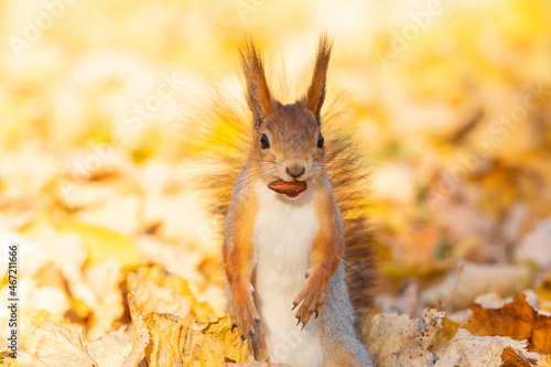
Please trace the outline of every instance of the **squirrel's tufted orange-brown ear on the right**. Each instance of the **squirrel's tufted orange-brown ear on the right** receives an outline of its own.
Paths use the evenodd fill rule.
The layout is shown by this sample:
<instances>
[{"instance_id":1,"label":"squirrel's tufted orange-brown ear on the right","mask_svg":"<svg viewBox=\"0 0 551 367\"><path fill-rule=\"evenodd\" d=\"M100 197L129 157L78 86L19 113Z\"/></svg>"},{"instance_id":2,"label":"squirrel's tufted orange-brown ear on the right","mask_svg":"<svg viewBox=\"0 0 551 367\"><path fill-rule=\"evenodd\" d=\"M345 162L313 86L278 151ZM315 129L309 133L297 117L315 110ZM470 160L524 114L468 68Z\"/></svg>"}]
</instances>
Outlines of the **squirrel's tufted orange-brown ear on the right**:
<instances>
[{"instance_id":1,"label":"squirrel's tufted orange-brown ear on the right","mask_svg":"<svg viewBox=\"0 0 551 367\"><path fill-rule=\"evenodd\" d=\"M320 112L325 100L325 84L327 79L327 67L329 66L331 47L333 40L327 37L327 33L320 36L317 53L315 55L314 74L306 95L301 104L314 114L317 122L321 122Z\"/></svg>"}]
</instances>

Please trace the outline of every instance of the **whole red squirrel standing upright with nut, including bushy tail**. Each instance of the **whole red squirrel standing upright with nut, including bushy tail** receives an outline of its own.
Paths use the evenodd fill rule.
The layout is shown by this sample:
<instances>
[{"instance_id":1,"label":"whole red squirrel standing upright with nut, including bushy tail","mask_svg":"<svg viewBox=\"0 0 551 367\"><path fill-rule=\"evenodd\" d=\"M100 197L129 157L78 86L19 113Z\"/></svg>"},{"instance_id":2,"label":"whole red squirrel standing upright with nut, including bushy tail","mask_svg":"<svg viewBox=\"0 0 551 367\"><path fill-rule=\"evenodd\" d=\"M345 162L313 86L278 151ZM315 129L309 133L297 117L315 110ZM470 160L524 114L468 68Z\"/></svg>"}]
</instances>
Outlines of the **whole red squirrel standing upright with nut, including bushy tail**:
<instances>
[{"instance_id":1,"label":"whole red squirrel standing upright with nut, including bushy tail","mask_svg":"<svg viewBox=\"0 0 551 367\"><path fill-rule=\"evenodd\" d=\"M213 213L225 217L231 331L257 360L372 366L358 337L372 268L366 169L349 126L336 123L333 106L322 114L332 46L323 33L306 94L283 105L247 41L239 54L248 111L218 93L190 119L196 131L183 155L209 168L203 182L218 197Z\"/></svg>"}]
</instances>

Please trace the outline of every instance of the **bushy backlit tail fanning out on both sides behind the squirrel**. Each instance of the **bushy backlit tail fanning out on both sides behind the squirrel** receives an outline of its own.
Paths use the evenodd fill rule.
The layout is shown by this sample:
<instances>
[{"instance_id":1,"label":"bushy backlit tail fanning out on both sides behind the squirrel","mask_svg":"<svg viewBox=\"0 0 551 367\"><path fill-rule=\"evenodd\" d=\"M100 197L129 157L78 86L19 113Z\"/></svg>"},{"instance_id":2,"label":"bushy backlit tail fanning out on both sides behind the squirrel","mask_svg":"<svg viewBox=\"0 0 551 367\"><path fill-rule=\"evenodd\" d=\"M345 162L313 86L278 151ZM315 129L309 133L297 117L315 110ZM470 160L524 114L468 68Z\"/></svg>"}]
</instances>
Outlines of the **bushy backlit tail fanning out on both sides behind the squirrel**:
<instances>
[{"instance_id":1,"label":"bushy backlit tail fanning out on both sides behind the squirrel","mask_svg":"<svg viewBox=\"0 0 551 367\"><path fill-rule=\"evenodd\" d=\"M228 212L237 175L246 163L252 119L242 89L224 93L213 89L209 100L188 114L179 156L193 168L201 196L219 228ZM326 170L337 204L343 213L346 280L356 317L361 321L371 303L371 236L368 223L368 168L360 147L355 143L350 120L344 119L337 104L328 102L323 118ZM186 174L187 175L187 174Z\"/></svg>"}]
</instances>

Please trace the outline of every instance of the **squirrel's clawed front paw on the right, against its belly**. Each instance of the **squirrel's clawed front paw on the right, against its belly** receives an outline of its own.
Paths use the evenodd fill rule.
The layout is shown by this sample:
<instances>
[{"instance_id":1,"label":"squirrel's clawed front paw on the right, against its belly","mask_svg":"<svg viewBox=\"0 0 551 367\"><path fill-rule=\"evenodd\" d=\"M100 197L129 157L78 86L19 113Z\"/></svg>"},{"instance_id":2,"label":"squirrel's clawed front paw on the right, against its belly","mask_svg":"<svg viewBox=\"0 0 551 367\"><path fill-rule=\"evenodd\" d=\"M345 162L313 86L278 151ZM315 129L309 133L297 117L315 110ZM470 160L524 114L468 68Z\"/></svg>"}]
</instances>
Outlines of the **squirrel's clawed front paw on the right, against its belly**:
<instances>
[{"instance_id":1,"label":"squirrel's clawed front paw on the right, against its belly","mask_svg":"<svg viewBox=\"0 0 551 367\"><path fill-rule=\"evenodd\" d=\"M298 319L296 325L302 323L303 330L312 314L315 313L315 319L317 319L317 314L325 302L326 287L327 281L324 280L324 277L310 277L299 295L293 300L293 310L302 302L295 317Z\"/></svg>"}]
</instances>

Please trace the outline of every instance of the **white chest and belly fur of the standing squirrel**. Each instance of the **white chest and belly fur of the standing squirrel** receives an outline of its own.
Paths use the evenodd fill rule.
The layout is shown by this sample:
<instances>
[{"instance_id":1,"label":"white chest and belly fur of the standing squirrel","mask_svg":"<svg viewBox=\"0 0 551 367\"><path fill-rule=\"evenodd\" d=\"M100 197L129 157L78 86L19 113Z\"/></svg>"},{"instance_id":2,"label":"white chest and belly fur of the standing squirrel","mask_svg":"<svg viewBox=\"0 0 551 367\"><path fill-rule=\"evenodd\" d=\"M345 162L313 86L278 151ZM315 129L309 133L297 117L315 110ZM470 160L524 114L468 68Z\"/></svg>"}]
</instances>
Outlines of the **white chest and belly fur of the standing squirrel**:
<instances>
[{"instance_id":1,"label":"white chest and belly fur of the standing squirrel","mask_svg":"<svg viewBox=\"0 0 551 367\"><path fill-rule=\"evenodd\" d=\"M293 299L311 267L312 245L318 231L314 190L288 199L264 185L256 187L259 211L255 223L255 302L260 313L272 361L291 366L321 366L320 325L311 320L296 326Z\"/></svg>"}]
</instances>

